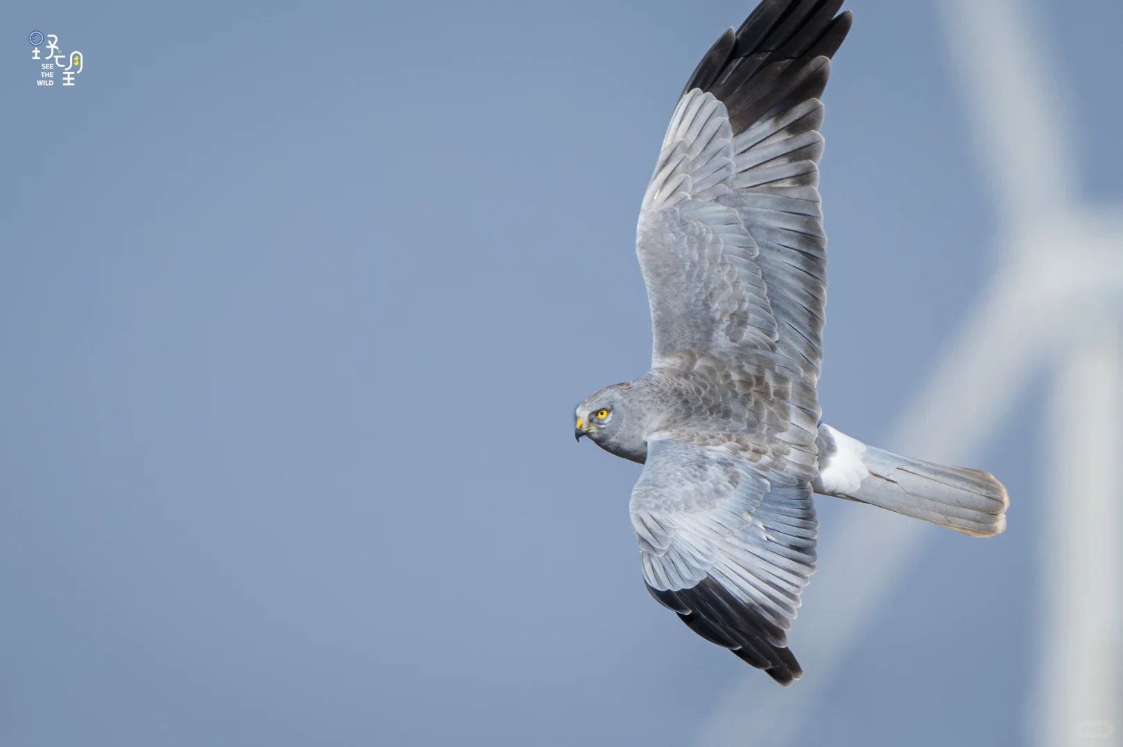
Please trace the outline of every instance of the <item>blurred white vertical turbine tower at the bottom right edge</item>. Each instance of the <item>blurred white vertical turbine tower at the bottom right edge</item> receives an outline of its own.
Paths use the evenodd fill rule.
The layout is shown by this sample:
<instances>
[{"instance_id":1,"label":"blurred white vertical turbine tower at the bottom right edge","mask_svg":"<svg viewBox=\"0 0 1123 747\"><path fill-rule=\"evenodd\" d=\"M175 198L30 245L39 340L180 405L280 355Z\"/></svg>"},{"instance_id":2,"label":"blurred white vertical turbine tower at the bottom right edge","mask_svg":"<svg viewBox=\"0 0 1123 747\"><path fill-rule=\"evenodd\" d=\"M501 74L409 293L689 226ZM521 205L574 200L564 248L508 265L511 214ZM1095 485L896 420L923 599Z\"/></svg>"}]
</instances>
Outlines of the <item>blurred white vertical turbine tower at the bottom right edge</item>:
<instances>
[{"instance_id":1,"label":"blurred white vertical turbine tower at the bottom right edge","mask_svg":"<svg viewBox=\"0 0 1123 747\"><path fill-rule=\"evenodd\" d=\"M1119 308L1081 316L1111 320ZM1044 624L1029 728L1041 747L1119 744L1110 732L1123 730L1123 349L1119 326L1089 326L1059 366L1047 431Z\"/></svg>"}]
</instances>

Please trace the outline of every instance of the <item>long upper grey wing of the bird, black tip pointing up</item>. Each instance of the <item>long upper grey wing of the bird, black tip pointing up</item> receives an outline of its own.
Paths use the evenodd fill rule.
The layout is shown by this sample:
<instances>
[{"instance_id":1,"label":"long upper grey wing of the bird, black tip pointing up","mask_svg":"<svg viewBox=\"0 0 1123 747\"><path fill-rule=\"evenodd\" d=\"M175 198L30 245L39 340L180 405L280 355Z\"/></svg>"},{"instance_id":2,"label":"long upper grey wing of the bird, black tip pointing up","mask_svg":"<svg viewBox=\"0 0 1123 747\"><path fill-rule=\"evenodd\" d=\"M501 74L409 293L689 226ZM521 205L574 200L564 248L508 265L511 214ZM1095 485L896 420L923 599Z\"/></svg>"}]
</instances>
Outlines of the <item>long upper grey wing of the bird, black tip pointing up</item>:
<instances>
[{"instance_id":1,"label":"long upper grey wing of the bird, black tip pointing up","mask_svg":"<svg viewBox=\"0 0 1123 747\"><path fill-rule=\"evenodd\" d=\"M765 0L687 82L640 211L655 365L766 349L818 379L827 297L819 96L850 28L849 12L836 16L841 4Z\"/></svg>"}]
</instances>

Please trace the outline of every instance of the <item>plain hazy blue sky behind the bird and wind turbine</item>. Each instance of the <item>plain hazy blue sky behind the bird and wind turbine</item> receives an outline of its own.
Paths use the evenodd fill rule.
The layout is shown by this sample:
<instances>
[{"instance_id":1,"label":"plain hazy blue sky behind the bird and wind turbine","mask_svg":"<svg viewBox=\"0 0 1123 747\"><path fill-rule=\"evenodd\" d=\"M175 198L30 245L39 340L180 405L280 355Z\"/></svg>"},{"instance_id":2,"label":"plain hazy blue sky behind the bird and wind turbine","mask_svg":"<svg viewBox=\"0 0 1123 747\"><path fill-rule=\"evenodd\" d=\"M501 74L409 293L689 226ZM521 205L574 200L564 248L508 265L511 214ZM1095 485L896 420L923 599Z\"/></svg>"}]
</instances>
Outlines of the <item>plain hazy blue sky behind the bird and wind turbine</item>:
<instances>
[{"instance_id":1,"label":"plain hazy blue sky behind the bird and wind turbine","mask_svg":"<svg viewBox=\"0 0 1123 747\"><path fill-rule=\"evenodd\" d=\"M935 9L848 7L820 395L876 443L997 223ZM1119 202L1123 6L1031 7ZM648 367L639 201L750 9L4 3L0 741L690 743L746 665L650 599L640 468L573 407ZM36 29L77 85L36 85ZM931 528L800 744L1024 741L1041 397L974 464L1010 529Z\"/></svg>"}]
</instances>

